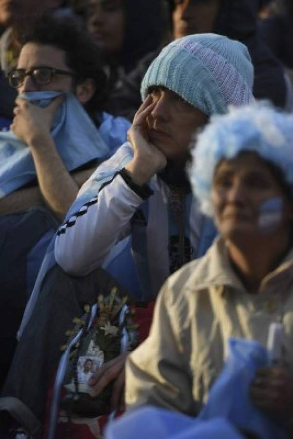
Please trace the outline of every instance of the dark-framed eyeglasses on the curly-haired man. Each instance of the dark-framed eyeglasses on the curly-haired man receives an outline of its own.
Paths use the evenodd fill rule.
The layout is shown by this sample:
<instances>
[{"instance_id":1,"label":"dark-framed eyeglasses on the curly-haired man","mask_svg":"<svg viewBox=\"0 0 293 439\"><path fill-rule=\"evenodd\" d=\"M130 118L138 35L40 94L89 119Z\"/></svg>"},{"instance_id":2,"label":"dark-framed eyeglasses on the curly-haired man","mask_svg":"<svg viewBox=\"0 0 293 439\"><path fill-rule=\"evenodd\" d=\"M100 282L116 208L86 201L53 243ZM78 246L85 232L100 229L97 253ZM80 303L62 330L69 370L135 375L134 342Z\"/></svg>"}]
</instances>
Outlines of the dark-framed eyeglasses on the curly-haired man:
<instances>
[{"instance_id":1,"label":"dark-framed eyeglasses on the curly-haired man","mask_svg":"<svg viewBox=\"0 0 293 439\"><path fill-rule=\"evenodd\" d=\"M54 75L69 75L75 77L74 73L66 70L53 69L52 67L40 66L33 70L13 69L7 74L9 84L13 88L18 88L23 84L25 77L29 75L36 85L48 85L52 82Z\"/></svg>"}]
</instances>

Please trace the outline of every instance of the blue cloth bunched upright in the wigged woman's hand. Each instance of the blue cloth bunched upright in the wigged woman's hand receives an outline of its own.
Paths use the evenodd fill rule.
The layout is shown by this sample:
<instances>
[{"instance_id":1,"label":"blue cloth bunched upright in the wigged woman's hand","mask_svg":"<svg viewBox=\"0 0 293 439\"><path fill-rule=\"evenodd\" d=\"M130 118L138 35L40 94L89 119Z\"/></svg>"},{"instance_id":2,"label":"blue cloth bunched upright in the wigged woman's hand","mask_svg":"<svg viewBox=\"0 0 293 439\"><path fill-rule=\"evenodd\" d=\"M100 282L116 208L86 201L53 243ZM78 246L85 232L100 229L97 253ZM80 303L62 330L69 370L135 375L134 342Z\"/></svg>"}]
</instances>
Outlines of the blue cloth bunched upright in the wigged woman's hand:
<instances>
[{"instance_id":1,"label":"blue cloth bunched upright in the wigged woman's hand","mask_svg":"<svg viewBox=\"0 0 293 439\"><path fill-rule=\"evenodd\" d=\"M262 439L285 438L284 428L257 409L249 395L256 369L268 364L268 352L257 341L229 339L228 359L198 419L221 416Z\"/></svg>"}]
</instances>

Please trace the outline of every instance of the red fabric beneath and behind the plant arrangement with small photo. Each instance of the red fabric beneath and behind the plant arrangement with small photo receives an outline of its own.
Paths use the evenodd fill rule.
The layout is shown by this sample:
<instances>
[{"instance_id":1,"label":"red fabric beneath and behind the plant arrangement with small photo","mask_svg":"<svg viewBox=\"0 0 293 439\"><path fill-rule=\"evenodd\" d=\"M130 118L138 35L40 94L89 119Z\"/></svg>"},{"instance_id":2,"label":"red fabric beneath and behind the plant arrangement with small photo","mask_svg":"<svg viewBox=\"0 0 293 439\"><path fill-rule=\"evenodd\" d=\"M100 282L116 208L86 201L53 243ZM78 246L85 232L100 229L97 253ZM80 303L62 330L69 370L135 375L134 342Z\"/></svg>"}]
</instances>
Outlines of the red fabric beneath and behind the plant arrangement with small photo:
<instances>
[{"instance_id":1,"label":"red fabric beneath and behind the plant arrangement with small photo","mask_svg":"<svg viewBox=\"0 0 293 439\"><path fill-rule=\"evenodd\" d=\"M145 307L134 306L135 310L133 317L134 323L138 324L137 328L139 333L139 343L145 340L150 332L150 327L153 319L155 302L149 302ZM55 381L55 379L54 379ZM51 400L53 396L54 381L49 388L47 402L46 402L46 419L44 424L44 439L48 436L48 428L50 421L50 409ZM65 395L65 390L62 389L61 397ZM121 412L117 414L117 417L121 415ZM66 414L59 412L59 420L57 425L56 439L101 439L102 431L107 424L108 415L100 416L96 419L72 419L71 423L68 423Z\"/></svg>"}]
</instances>

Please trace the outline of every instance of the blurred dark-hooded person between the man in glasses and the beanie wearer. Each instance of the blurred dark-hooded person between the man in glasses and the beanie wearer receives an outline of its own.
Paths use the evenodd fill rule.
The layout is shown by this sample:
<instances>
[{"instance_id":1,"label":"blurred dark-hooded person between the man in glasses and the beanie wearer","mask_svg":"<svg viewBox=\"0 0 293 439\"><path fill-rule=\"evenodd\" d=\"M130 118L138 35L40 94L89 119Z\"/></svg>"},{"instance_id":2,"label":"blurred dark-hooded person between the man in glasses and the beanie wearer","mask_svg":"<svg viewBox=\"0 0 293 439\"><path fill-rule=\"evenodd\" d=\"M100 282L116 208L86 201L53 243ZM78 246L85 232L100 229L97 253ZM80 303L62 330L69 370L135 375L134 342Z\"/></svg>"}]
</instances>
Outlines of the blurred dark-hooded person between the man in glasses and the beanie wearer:
<instances>
[{"instance_id":1,"label":"blurred dark-hooded person between the man in glasses and the beanie wearer","mask_svg":"<svg viewBox=\"0 0 293 439\"><path fill-rule=\"evenodd\" d=\"M142 58L156 57L166 24L162 0L89 0L87 16L88 31L104 51L112 89L122 87ZM110 113L128 116L123 105L109 99ZM139 98L135 111L140 103Z\"/></svg>"}]
</instances>

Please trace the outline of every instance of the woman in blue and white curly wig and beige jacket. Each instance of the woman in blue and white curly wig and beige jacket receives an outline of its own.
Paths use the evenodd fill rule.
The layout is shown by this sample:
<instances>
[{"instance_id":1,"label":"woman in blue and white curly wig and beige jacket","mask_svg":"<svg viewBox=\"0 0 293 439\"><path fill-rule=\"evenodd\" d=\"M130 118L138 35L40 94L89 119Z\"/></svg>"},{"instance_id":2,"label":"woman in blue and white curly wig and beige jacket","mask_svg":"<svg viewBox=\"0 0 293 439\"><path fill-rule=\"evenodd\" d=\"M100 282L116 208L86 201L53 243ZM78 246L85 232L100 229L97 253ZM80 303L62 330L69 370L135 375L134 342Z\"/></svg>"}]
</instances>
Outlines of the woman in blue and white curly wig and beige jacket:
<instances>
[{"instance_id":1,"label":"woman in blue and white curly wig and beige jacket","mask_svg":"<svg viewBox=\"0 0 293 439\"><path fill-rule=\"evenodd\" d=\"M150 336L128 361L126 402L196 415L228 339L266 346L279 322L283 363L258 371L251 398L293 419L293 116L264 104L231 109L212 118L193 157L193 190L219 237L162 287Z\"/></svg>"}]
</instances>

